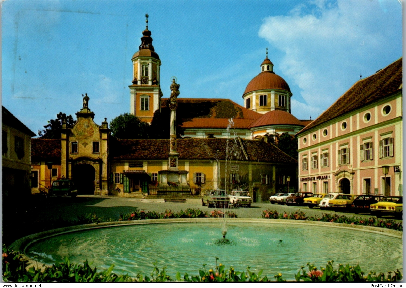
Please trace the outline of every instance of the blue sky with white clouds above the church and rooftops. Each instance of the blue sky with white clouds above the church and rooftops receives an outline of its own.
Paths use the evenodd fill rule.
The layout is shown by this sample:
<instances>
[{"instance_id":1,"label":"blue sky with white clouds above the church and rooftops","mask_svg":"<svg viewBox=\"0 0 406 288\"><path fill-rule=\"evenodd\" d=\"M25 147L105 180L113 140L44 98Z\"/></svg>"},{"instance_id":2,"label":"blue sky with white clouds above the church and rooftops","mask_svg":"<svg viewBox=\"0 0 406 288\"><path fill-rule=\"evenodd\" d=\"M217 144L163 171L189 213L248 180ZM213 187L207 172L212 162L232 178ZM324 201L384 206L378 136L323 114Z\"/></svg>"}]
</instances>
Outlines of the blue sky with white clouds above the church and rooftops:
<instances>
[{"instance_id":1,"label":"blue sky with white clouds above the church and rooftops","mask_svg":"<svg viewBox=\"0 0 406 288\"><path fill-rule=\"evenodd\" d=\"M359 79L402 57L398 0L6 0L2 105L37 133L82 94L101 124L130 111L131 57L145 29L184 98L229 98L268 57L289 84L292 114L315 119Z\"/></svg>"}]
</instances>

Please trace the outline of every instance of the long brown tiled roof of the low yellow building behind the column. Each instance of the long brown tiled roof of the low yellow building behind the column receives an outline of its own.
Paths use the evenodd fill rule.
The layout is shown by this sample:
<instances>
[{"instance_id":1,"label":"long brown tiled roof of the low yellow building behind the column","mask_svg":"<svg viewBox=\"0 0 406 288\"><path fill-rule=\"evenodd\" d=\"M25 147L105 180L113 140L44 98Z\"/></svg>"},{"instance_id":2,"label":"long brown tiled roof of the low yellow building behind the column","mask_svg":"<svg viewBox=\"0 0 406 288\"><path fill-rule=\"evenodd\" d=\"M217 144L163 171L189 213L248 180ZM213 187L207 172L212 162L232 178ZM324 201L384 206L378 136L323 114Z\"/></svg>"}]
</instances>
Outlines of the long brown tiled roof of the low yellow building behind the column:
<instances>
[{"instance_id":1,"label":"long brown tiled roof of the low yellow building behind the column","mask_svg":"<svg viewBox=\"0 0 406 288\"><path fill-rule=\"evenodd\" d=\"M297 163L297 160L285 154L271 143L254 140L235 139L178 139L179 159L226 159L226 148L233 150L228 159L241 161L259 161L270 163ZM169 140L115 140L110 142L110 156L116 160L125 159L168 159ZM248 156L245 158L244 152Z\"/></svg>"}]
</instances>

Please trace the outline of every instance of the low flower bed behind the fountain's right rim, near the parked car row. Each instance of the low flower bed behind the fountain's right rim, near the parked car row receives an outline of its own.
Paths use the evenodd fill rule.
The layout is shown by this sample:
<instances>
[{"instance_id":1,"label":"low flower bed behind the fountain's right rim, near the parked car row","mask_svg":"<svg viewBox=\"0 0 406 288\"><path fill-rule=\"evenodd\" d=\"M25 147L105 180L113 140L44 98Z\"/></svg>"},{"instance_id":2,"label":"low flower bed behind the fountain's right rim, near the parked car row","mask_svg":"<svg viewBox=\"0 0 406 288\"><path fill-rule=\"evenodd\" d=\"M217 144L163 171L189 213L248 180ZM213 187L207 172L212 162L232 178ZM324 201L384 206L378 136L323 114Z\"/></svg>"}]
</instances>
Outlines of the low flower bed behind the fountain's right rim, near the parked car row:
<instances>
[{"instance_id":1,"label":"low flower bed behind the fountain's right rim, near the parked car row","mask_svg":"<svg viewBox=\"0 0 406 288\"><path fill-rule=\"evenodd\" d=\"M310 221L322 221L322 222L334 222L334 223L347 223L351 225L364 225L380 228L388 228L398 231L403 231L403 225L401 222L396 222L391 219L379 219L370 217L368 219L360 218L356 216L344 216L337 214L325 214L323 213L321 217L317 216L306 216L304 212L296 211L287 214L279 214L275 210L263 210L260 218L270 218L270 219L294 219L294 220L310 220Z\"/></svg>"}]
</instances>

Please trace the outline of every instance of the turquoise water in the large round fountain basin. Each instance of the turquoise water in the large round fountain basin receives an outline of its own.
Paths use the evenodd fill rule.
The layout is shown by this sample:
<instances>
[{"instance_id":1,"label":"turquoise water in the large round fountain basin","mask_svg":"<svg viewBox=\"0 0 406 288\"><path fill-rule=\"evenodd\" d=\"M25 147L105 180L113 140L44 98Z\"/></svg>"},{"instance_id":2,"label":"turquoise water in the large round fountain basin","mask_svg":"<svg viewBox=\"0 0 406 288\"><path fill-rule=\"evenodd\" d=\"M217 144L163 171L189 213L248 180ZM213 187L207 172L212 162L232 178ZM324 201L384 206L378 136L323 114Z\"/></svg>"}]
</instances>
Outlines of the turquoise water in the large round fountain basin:
<instances>
[{"instance_id":1,"label":"turquoise water in the large round fountain basin","mask_svg":"<svg viewBox=\"0 0 406 288\"><path fill-rule=\"evenodd\" d=\"M179 271L198 275L218 263L236 271L263 269L273 279L283 273L294 279L307 262L318 268L328 260L335 264L359 263L364 272L387 272L402 268L402 239L376 233L317 227L261 223L230 223L227 239L233 245L216 245L220 239L218 223L173 223L132 225L67 233L47 238L28 247L26 254L52 264L68 257L82 263L86 258L97 268L114 264L114 273L149 275L153 263L173 278ZM280 241L282 240L282 242Z\"/></svg>"}]
</instances>

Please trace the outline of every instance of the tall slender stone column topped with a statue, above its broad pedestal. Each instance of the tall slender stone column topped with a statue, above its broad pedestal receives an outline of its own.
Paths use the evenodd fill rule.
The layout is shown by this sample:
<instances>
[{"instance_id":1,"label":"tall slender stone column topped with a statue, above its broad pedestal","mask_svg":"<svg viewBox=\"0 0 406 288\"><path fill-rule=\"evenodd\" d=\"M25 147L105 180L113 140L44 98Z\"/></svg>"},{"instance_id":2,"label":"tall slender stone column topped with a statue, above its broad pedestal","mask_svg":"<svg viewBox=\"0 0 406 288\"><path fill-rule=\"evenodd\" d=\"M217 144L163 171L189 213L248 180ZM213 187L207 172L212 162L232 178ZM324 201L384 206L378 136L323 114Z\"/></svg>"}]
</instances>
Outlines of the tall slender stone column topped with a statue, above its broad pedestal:
<instances>
[{"instance_id":1,"label":"tall slender stone column topped with a statue, above its broad pedestal","mask_svg":"<svg viewBox=\"0 0 406 288\"><path fill-rule=\"evenodd\" d=\"M172 79L171 84L171 97L169 104L169 109L171 109L171 129L169 136L169 169L168 170L178 170L178 157L179 153L176 152L176 109L177 100L179 96L179 84L176 83L175 78Z\"/></svg>"}]
</instances>

